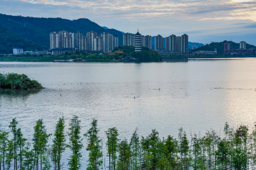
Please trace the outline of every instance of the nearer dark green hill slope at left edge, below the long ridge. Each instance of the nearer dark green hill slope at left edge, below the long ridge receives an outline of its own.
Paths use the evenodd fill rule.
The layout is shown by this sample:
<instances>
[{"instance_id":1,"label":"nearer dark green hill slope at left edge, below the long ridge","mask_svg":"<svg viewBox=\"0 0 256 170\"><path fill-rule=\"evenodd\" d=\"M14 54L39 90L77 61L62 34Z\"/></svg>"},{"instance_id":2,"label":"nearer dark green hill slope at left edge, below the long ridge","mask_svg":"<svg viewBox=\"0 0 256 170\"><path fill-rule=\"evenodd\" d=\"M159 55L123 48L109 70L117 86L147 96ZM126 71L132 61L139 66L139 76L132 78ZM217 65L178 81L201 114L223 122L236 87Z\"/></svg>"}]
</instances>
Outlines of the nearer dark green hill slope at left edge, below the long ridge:
<instances>
[{"instance_id":1,"label":"nearer dark green hill slope at left edge, below the long ridge","mask_svg":"<svg viewBox=\"0 0 256 170\"><path fill-rule=\"evenodd\" d=\"M46 46L26 40L9 29L0 26L0 54L11 54L13 53L12 48L23 48L24 51L47 49Z\"/></svg>"}]
</instances>

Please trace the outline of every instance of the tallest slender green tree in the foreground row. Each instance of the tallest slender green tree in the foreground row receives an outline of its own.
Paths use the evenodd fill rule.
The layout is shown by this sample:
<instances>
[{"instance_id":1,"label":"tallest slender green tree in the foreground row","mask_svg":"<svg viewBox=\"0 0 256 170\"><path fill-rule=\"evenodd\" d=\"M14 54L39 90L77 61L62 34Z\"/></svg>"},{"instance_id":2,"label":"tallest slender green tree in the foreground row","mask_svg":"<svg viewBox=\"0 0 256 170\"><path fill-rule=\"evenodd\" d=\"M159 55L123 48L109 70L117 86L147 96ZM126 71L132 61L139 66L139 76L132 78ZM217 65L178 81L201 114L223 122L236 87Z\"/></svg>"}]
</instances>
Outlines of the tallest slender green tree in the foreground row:
<instances>
[{"instance_id":1,"label":"tallest slender green tree in the foreground row","mask_svg":"<svg viewBox=\"0 0 256 170\"><path fill-rule=\"evenodd\" d=\"M82 139L80 136L81 133L81 126L80 126L80 120L78 119L78 116L73 115L73 118L70 120L68 129L68 136L69 136L69 144L68 147L72 151L72 154L70 156L68 165L69 170L79 170L81 167L81 149L83 147Z\"/></svg>"}]
</instances>

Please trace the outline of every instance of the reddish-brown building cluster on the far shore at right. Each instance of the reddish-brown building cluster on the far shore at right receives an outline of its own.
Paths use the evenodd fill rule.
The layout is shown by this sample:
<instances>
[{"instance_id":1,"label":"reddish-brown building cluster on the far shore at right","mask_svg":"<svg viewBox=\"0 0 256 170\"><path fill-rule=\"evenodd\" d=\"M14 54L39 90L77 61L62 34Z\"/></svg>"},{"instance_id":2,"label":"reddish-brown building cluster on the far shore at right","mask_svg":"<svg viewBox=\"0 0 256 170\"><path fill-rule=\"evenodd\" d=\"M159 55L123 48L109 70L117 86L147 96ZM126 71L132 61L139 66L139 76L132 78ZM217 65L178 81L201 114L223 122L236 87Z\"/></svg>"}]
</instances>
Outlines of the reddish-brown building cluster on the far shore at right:
<instances>
[{"instance_id":1,"label":"reddish-brown building cluster on the far shore at right","mask_svg":"<svg viewBox=\"0 0 256 170\"><path fill-rule=\"evenodd\" d=\"M256 53L256 48L246 49L246 42L240 42L239 49L232 49L232 44L230 42L224 43L224 54L252 54Z\"/></svg>"}]
</instances>

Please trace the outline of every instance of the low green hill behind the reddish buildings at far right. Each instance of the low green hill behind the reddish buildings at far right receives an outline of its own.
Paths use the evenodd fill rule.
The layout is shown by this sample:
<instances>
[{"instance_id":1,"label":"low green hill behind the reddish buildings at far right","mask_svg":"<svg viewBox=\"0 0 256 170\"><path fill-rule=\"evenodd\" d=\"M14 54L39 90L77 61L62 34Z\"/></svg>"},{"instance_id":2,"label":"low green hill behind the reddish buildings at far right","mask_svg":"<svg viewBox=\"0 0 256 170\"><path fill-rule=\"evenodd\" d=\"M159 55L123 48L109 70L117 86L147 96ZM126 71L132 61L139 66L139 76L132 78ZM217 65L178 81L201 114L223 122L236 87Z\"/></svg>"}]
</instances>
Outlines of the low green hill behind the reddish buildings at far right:
<instances>
[{"instance_id":1,"label":"low green hill behind the reddish buildings at far right","mask_svg":"<svg viewBox=\"0 0 256 170\"><path fill-rule=\"evenodd\" d=\"M192 51L201 51L201 50L204 50L204 51L214 51L215 48L217 48L217 53L218 54L223 54L224 53L224 43L226 43L227 40L223 41L223 42L212 42L210 44L206 44L204 46L201 46L199 48L196 48L195 50L192 50ZM236 42L232 42L232 41L229 41L231 43L231 49L239 49L240 48L240 43L236 43ZM246 48L249 49L249 48L256 48L255 45L250 45L250 44L247 44L246 43Z\"/></svg>"}]
</instances>

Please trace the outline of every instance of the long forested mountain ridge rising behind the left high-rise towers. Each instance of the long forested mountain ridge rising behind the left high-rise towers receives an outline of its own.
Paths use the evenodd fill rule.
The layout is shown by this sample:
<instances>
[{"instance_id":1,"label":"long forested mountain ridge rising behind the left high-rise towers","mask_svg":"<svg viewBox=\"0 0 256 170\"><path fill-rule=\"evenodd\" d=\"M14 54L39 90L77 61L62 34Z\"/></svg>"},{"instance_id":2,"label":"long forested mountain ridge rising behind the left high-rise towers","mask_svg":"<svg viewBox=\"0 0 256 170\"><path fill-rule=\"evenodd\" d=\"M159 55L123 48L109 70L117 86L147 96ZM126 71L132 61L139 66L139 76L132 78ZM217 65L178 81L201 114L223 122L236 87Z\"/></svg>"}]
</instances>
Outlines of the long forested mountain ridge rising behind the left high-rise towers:
<instances>
[{"instance_id":1,"label":"long forested mountain ridge rising behind the left high-rise towers","mask_svg":"<svg viewBox=\"0 0 256 170\"><path fill-rule=\"evenodd\" d=\"M122 46L122 32L115 29L105 30L98 24L81 18L78 20L67 20L62 18L37 18L37 17L22 17L0 14L0 26L8 28L21 37L44 45L49 48L49 34L52 31L80 31L86 35L88 31L96 31L99 34L109 32L118 35L119 45Z\"/></svg>"}]
</instances>

